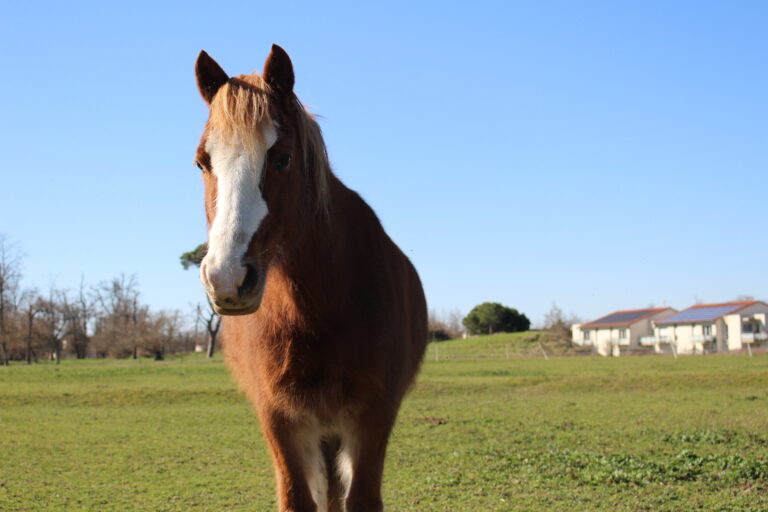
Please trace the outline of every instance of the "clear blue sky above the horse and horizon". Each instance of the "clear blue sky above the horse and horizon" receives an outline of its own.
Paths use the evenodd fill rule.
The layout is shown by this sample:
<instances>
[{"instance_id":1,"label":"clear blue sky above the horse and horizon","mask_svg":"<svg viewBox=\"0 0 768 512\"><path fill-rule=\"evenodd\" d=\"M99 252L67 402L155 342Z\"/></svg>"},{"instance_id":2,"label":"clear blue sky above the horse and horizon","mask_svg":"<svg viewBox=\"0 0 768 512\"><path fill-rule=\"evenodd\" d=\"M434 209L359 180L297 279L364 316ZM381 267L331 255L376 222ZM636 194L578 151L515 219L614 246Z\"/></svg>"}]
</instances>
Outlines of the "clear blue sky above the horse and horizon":
<instances>
[{"instance_id":1,"label":"clear blue sky above the horse and horizon","mask_svg":"<svg viewBox=\"0 0 768 512\"><path fill-rule=\"evenodd\" d=\"M768 3L0 3L0 233L25 284L202 300L193 66L291 55L430 305L540 321L767 298Z\"/></svg>"}]
</instances>

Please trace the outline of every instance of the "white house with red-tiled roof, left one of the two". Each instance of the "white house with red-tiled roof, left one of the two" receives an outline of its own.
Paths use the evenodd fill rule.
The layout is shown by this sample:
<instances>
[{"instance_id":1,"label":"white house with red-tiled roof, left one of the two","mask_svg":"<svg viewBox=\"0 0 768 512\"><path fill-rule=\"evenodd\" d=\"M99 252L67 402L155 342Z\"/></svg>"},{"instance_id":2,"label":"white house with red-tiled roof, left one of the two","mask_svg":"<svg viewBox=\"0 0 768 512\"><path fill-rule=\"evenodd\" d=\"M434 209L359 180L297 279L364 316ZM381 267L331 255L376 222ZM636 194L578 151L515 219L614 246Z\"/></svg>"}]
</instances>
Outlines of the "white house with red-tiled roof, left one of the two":
<instances>
[{"instance_id":1,"label":"white house with red-tiled roof, left one of the two","mask_svg":"<svg viewBox=\"0 0 768 512\"><path fill-rule=\"evenodd\" d=\"M653 334L654 320L675 314L672 308L645 308L614 311L586 324L571 327L573 342L592 345L600 355L621 355L631 347L639 347L640 339Z\"/></svg>"}]
</instances>

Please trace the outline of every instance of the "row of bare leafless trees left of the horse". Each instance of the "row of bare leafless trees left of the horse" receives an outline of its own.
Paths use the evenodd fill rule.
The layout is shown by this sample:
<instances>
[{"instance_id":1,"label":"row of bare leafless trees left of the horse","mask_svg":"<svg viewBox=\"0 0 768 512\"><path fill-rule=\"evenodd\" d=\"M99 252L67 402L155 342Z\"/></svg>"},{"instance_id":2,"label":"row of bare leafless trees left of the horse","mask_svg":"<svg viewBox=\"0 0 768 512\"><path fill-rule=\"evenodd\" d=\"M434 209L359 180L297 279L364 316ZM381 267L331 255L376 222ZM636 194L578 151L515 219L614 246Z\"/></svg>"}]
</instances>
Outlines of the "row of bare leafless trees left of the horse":
<instances>
[{"instance_id":1,"label":"row of bare leafless trees left of the horse","mask_svg":"<svg viewBox=\"0 0 768 512\"><path fill-rule=\"evenodd\" d=\"M206 313L152 310L135 277L79 289L22 285L21 253L0 235L0 361L60 362L64 357L162 360L205 344ZM190 318L191 317L191 318ZM190 321L191 320L191 321Z\"/></svg>"}]
</instances>

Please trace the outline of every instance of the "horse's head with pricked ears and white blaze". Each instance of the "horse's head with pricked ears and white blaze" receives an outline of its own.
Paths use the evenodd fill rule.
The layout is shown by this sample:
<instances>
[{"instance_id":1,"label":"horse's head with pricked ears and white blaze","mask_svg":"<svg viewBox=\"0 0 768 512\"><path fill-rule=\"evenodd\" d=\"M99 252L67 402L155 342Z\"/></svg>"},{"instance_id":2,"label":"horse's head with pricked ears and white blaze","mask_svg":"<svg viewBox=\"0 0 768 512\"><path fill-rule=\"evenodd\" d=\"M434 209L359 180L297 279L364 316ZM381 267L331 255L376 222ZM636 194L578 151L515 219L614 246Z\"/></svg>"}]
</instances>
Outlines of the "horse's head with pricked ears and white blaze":
<instances>
[{"instance_id":1,"label":"horse's head with pricked ears and white blaze","mask_svg":"<svg viewBox=\"0 0 768 512\"><path fill-rule=\"evenodd\" d=\"M209 226L200 277L218 313L248 314L261 303L281 226L295 225L308 165L302 127L310 133L307 120L316 125L293 93L293 66L277 45L262 76L230 78L205 52L195 71L210 107L196 156Z\"/></svg>"}]
</instances>

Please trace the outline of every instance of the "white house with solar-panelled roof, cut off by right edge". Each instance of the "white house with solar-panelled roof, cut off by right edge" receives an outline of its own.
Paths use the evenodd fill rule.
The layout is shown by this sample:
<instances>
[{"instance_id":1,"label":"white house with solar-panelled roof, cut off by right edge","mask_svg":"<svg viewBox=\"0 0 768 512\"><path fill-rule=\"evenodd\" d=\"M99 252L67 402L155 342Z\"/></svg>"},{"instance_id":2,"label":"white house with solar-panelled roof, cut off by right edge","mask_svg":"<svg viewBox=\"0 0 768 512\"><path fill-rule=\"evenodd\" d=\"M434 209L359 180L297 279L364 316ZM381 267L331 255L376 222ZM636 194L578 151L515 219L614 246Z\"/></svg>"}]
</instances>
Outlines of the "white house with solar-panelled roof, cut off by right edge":
<instances>
[{"instance_id":1,"label":"white house with solar-panelled roof, cut off by right edge","mask_svg":"<svg viewBox=\"0 0 768 512\"><path fill-rule=\"evenodd\" d=\"M642 345L657 352L703 354L741 350L768 340L768 304L759 300L697 304L653 322L653 335Z\"/></svg>"}]
</instances>

